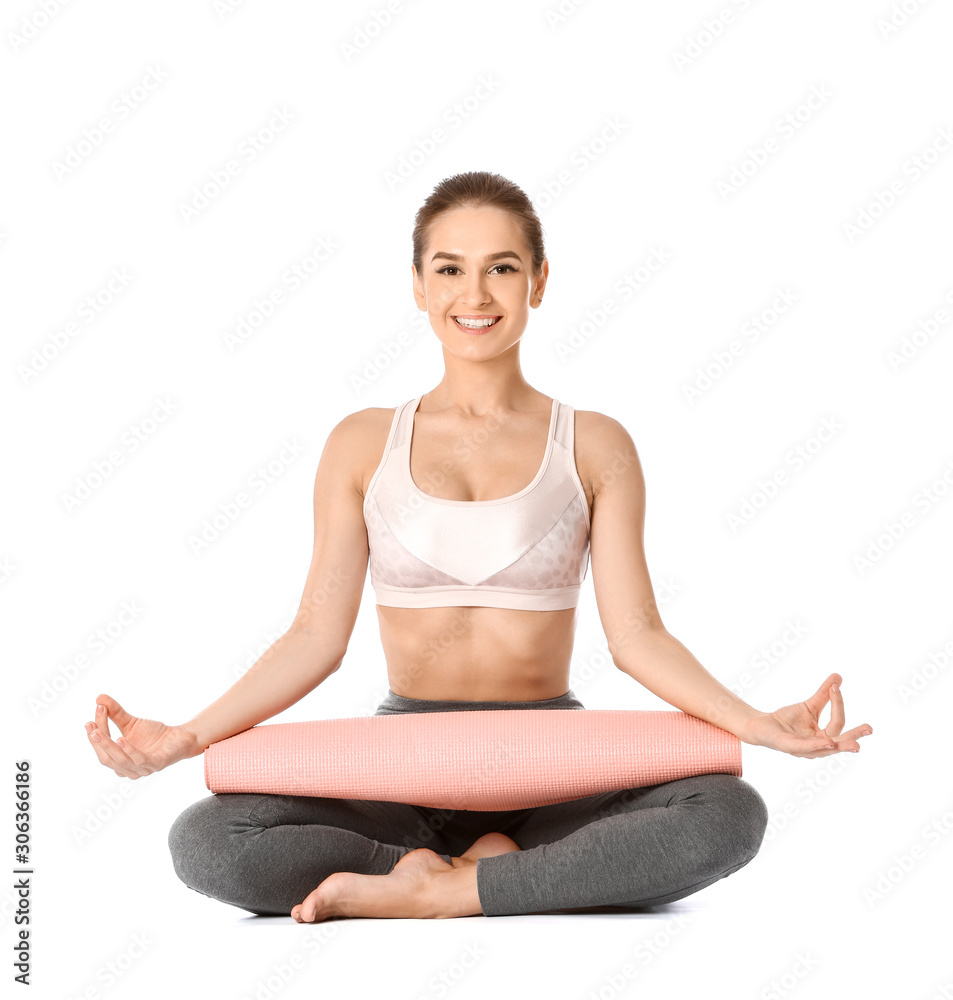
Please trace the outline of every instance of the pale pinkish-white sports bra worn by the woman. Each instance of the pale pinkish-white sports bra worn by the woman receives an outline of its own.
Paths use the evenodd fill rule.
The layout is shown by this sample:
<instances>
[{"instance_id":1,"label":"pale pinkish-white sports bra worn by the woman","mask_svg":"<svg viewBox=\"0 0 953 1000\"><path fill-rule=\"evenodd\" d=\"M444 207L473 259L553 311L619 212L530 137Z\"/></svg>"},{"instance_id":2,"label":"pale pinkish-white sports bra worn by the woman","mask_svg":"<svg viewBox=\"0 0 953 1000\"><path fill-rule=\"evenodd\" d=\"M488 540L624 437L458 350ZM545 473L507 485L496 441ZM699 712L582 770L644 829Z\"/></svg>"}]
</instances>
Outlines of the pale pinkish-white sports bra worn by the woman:
<instances>
[{"instance_id":1,"label":"pale pinkish-white sports bra worn by the woman","mask_svg":"<svg viewBox=\"0 0 953 1000\"><path fill-rule=\"evenodd\" d=\"M446 500L418 489L410 439L422 396L398 406L364 497L371 583L394 608L573 608L589 566L589 504L573 408L553 400L543 464L519 493Z\"/></svg>"}]
</instances>

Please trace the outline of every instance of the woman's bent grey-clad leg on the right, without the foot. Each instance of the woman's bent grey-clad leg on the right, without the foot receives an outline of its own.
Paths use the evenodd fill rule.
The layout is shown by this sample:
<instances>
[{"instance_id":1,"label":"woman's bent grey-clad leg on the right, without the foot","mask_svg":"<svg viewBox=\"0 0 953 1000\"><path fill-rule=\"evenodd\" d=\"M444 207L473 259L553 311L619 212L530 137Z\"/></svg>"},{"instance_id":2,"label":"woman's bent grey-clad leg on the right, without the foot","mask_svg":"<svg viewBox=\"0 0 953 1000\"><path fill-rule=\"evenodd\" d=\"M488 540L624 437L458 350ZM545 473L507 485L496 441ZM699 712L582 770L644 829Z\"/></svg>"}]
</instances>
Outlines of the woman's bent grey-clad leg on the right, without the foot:
<instances>
[{"instance_id":1,"label":"woman's bent grey-clad leg on the right, without the foot","mask_svg":"<svg viewBox=\"0 0 953 1000\"><path fill-rule=\"evenodd\" d=\"M670 903L746 865L767 822L758 791L729 774L541 806L510 830L519 853L478 861L482 912Z\"/></svg>"}]
</instances>

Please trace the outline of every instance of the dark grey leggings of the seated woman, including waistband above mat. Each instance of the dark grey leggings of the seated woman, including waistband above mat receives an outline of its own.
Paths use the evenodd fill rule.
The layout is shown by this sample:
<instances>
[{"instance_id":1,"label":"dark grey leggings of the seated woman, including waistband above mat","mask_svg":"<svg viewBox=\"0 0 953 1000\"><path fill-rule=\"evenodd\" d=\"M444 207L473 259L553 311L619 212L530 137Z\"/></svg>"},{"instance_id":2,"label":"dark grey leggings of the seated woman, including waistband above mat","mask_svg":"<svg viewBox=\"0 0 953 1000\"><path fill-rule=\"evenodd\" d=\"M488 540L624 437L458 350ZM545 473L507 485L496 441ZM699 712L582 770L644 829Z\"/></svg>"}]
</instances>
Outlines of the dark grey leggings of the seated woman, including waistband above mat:
<instances>
[{"instance_id":1,"label":"dark grey leggings of the seated woman, including waistband above mat","mask_svg":"<svg viewBox=\"0 0 953 1000\"><path fill-rule=\"evenodd\" d=\"M375 715L585 709L572 691L542 701L434 701L388 690ZM485 916L656 906L746 865L768 810L742 778L705 774L502 812L305 795L209 795L169 831L190 888L252 913L288 915L333 872L386 875L429 847L445 861L496 831L521 850L477 861Z\"/></svg>"}]
</instances>

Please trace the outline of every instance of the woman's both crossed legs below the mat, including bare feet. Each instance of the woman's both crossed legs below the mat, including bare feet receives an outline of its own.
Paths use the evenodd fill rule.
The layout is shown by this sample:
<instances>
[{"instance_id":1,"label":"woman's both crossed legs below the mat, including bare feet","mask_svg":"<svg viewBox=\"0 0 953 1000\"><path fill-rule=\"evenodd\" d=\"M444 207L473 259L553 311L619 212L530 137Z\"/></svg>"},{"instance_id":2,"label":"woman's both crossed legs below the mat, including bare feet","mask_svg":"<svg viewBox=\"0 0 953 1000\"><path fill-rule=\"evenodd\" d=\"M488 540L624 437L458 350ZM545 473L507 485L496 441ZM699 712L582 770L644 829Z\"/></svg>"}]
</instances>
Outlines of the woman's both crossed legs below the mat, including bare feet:
<instances>
[{"instance_id":1,"label":"woman's both crossed legs below the mat, including bare feet","mask_svg":"<svg viewBox=\"0 0 953 1000\"><path fill-rule=\"evenodd\" d=\"M254 913L501 916L680 899L747 864L767 818L726 774L496 814L229 794L189 806L169 845L187 885Z\"/></svg>"}]
</instances>

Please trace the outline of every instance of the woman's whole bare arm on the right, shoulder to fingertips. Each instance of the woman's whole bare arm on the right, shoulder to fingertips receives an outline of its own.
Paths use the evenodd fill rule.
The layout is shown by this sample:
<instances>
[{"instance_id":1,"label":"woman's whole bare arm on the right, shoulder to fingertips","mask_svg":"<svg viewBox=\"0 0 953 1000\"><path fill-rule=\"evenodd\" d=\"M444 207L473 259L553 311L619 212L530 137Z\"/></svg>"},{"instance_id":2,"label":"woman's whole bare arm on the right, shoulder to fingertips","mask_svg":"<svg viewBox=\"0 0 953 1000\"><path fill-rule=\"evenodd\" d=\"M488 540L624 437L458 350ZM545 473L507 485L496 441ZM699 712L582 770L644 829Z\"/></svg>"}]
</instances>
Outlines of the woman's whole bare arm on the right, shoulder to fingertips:
<instances>
[{"instance_id":1,"label":"woman's whole bare arm on the right, shoulder to fingertips","mask_svg":"<svg viewBox=\"0 0 953 1000\"><path fill-rule=\"evenodd\" d=\"M645 561L645 478L635 444L622 424L602 413L576 411L576 427L576 440L584 442L577 464L593 494L590 563L596 605L615 666L670 705L745 743L796 757L856 752L858 738L873 730L864 723L842 733L840 674L831 674L806 701L760 712L713 677L665 628ZM828 700L831 719L821 728Z\"/></svg>"}]
</instances>

